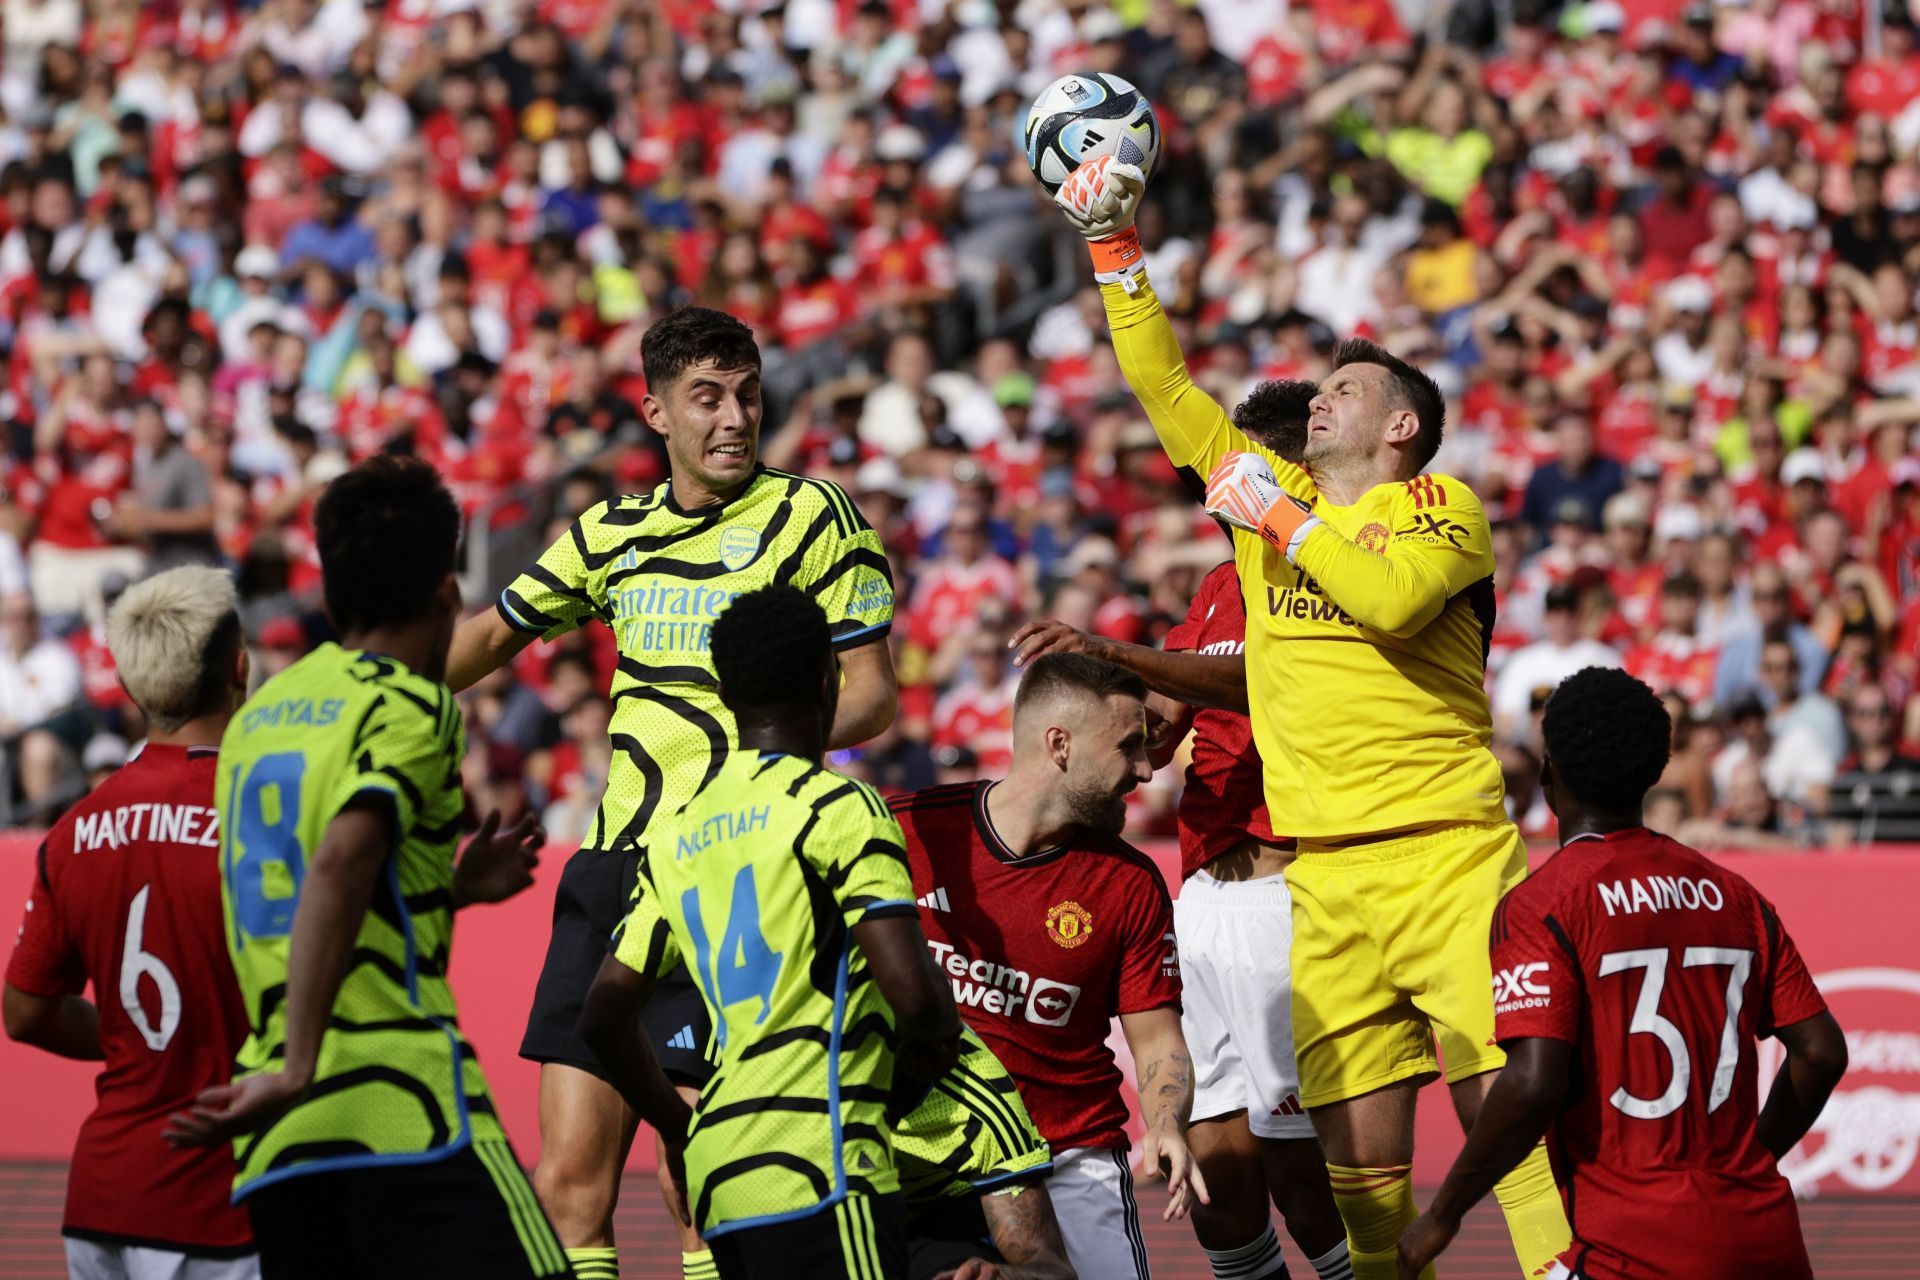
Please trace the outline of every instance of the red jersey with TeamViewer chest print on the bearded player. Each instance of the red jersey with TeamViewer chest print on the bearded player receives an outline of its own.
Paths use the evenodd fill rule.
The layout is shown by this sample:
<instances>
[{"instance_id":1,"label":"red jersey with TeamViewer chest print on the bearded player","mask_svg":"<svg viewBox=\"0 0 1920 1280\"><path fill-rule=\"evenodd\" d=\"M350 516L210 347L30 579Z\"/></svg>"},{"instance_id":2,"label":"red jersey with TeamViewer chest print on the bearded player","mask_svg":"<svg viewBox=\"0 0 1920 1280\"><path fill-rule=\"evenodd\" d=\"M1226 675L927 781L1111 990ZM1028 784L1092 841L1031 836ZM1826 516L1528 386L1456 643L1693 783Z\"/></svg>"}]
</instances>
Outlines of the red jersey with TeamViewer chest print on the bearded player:
<instances>
[{"instance_id":1,"label":"red jersey with TeamViewer chest print on the bearded player","mask_svg":"<svg viewBox=\"0 0 1920 1280\"><path fill-rule=\"evenodd\" d=\"M1054 1151L1125 1150L1127 1103L1106 1034L1119 1013L1181 1000L1167 885L1117 839L1014 856L987 818L991 787L891 802L933 963Z\"/></svg>"}]
</instances>

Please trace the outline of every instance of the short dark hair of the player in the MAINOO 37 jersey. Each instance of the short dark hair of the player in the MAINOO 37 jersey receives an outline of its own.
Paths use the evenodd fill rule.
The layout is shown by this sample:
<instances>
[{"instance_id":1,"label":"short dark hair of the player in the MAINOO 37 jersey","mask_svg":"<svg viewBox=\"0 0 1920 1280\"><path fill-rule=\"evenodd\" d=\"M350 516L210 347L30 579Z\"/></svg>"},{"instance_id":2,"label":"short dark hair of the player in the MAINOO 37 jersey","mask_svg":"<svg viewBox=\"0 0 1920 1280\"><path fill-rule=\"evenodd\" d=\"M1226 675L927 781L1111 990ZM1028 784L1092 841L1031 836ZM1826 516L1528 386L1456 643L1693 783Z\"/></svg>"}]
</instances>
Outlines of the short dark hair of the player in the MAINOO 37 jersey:
<instances>
[{"instance_id":1,"label":"short dark hair of the player in the MAINOO 37 jersey","mask_svg":"<svg viewBox=\"0 0 1920 1280\"><path fill-rule=\"evenodd\" d=\"M1553 775L1601 814L1638 814L1672 754L1672 720L1649 687L1609 666L1559 683L1540 722Z\"/></svg>"}]
</instances>

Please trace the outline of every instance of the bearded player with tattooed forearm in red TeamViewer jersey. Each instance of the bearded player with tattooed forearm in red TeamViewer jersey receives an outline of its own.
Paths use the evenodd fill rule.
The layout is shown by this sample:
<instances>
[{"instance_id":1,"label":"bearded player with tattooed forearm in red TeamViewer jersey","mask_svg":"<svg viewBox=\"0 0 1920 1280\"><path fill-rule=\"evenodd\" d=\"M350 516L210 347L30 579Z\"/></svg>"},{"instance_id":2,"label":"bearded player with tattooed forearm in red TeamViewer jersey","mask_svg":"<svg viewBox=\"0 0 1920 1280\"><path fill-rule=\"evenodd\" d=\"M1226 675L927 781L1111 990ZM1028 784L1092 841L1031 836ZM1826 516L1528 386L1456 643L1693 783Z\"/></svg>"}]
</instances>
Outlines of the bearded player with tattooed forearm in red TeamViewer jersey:
<instances>
[{"instance_id":1,"label":"bearded player with tattooed forearm in red TeamViewer jersey","mask_svg":"<svg viewBox=\"0 0 1920 1280\"><path fill-rule=\"evenodd\" d=\"M1165 1217L1208 1197L1187 1150L1173 908L1158 867L1119 839L1127 793L1154 773L1144 699L1110 662L1039 658L1014 695L1004 779L891 802L927 948L1046 1136L1060 1234L1089 1280L1148 1276L1112 1019L1139 1073L1142 1165L1167 1176Z\"/></svg>"}]
</instances>

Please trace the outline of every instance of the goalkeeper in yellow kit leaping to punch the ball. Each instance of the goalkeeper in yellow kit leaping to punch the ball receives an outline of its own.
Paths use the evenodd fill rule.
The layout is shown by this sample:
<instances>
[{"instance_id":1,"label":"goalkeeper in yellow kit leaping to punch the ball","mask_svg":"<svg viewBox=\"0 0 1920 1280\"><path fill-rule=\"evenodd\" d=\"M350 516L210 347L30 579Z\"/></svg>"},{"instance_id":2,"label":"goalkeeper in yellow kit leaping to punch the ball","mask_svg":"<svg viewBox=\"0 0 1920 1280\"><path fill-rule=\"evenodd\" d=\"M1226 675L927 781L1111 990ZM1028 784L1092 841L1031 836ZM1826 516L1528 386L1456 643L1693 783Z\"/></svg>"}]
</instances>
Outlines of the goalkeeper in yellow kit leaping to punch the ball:
<instances>
[{"instance_id":1,"label":"goalkeeper in yellow kit leaping to punch the ball","mask_svg":"<svg viewBox=\"0 0 1920 1280\"><path fill-rule=\"evenodd\" d=\"M1302 464L1248 439L1187 372L1133 215L1133 165L1081 165L1054 203L1089 240L1114 353L1167 457L1235 528L1246 679L1273 825L1300 839L1294 1048L1354 1274L1394 1276L1413 1221L1413 1103L1452 1086L1463 1126L1505 1061L1486 938L1526 875L1488 747L1494 629L1486 512L1423 474L1446 407L1432 380L1346 342ZM1438 1040L1440 1054L1434 1055ZM1546 1151L1496 1188L1523 1274L1569 1240ZM1423 1272L1430 1274L1430 1272Z\"/></svg>"}]
</instances>

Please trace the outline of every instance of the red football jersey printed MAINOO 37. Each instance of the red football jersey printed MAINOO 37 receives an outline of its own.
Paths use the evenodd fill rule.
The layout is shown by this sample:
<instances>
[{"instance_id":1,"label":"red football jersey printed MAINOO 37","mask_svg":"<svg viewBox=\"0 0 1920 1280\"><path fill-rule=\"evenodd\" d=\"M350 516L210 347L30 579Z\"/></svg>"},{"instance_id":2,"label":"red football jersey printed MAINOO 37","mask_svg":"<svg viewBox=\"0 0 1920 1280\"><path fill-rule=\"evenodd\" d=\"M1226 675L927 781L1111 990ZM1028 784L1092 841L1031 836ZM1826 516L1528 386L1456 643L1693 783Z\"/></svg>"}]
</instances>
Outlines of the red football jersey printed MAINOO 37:
<instances>
[{"instance_id":1,"label":"red football jersey printed MAINOO 37","mask_svg":"<svg viewBox=\"0 0 1920 1280\"><path fill-rule=\"evenodd\" d=\"M1548 1130L1574 1274L1812 1274L1753 1042L1826 1002L1747 881L1644 827L1576 837L1501 900L1492 960L1498 1038L1574 1046Z\"/></svg>"}]
</instances>

